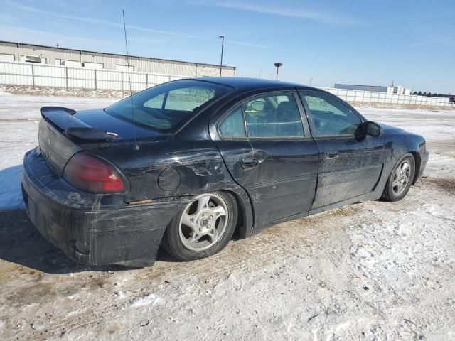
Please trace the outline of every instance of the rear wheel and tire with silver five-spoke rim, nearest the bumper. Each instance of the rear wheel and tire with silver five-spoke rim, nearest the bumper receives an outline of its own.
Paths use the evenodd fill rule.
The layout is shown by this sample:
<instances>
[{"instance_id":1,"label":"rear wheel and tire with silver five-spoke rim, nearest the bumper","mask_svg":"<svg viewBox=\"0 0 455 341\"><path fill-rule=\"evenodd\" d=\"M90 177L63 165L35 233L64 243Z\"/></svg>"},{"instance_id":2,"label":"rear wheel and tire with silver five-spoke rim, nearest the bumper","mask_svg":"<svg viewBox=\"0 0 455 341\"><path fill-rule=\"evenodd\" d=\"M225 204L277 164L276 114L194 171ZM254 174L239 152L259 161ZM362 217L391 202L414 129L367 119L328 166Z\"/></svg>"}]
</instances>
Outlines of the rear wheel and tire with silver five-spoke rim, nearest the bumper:
<instances>
[{"instance_id":1,"label":"rear wheel and tire with silver five-spoke rim, nearest the bumper","mask_svg":"<svg viewBox=\"0 0 455 341\"><path fill-rule=\"evenodd\" d=\"M209 200L207 197L210 197ZM179 261L193 261L218 254L234 234L237 215L237 203L230 193L198 195L173 218L161 244L168 254Z\"/></svg>"}]
</instances>

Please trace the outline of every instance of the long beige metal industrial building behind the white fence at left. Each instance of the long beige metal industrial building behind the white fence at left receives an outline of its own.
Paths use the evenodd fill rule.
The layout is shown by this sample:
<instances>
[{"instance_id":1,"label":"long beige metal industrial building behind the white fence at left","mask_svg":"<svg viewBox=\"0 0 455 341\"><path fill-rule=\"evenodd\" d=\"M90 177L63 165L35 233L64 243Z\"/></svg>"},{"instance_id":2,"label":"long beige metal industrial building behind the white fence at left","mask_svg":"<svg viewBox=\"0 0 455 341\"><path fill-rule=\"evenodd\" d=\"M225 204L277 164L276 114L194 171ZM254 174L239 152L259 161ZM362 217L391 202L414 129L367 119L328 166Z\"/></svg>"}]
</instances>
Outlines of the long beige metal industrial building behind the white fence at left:
<instances>
[{"instance_id":1,"label":"long beige metal industrial building behind the white fence at left","mask_svg":"<svg viewBox=\"0 0 455 341\"><path fill-rule=\"evenodd\" d=\"M0 41L0 62L22 62L41 65L80 67L91 70L127 71L126 55L31 45ZM220 65L191 63L179 60L129 56L132 72L146 72L180 77L219 76ZM223 76L234 76L235 67L223 66Z\"/></svg>"}]
</instances>

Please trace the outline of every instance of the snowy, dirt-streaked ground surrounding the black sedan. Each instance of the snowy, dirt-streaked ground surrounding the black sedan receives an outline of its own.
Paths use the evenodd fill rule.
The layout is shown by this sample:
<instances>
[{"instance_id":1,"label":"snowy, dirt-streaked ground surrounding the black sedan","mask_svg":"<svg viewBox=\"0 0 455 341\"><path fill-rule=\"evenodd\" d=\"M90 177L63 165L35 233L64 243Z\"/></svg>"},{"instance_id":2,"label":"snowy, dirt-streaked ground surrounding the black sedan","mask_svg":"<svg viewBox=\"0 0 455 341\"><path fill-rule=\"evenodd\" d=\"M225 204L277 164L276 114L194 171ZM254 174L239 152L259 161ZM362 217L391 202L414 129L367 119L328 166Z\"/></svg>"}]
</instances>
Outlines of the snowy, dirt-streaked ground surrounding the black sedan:
<instances>
[{"instance_id":1,"label":"snowy, dirt-streaked ground surrounding the black sedan","mask_svg":"<svg viewBox=\"0 0 455 341\"><path fill-rule=\"evenodd\" d=\"M39 107L109 101L0 94L1 205L19 205ZM404 200L279 224L209 259L80 266L23 210L0 212L0 340L453 340L455 112L360 112L426 137L425 178Z\"/></svg>"}]
</instances>

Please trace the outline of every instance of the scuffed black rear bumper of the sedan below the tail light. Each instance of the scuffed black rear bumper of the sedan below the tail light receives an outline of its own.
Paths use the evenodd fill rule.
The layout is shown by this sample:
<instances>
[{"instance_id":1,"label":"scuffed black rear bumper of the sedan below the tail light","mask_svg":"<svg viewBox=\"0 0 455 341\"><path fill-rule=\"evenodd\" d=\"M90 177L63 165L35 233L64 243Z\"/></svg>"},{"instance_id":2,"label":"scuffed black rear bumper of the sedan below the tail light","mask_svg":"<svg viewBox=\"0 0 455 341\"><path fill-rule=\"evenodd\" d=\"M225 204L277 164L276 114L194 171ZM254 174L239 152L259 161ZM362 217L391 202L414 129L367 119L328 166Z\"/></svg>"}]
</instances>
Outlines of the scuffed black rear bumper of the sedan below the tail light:
<instances>
[{"instance_id":1,"label":"scuffed black rear bumper of the sedan below the tail light","mask_svg":"<svg viewBox=\"0 0 455 341\"><path fill-rule=\"evenodd\" d=\"M103 200L72 188L46 168L38 152L26 154L21 182L28 216L45 239L81 264L153 265L166 227L189 202Z\"/></svg>"}]
</instances>

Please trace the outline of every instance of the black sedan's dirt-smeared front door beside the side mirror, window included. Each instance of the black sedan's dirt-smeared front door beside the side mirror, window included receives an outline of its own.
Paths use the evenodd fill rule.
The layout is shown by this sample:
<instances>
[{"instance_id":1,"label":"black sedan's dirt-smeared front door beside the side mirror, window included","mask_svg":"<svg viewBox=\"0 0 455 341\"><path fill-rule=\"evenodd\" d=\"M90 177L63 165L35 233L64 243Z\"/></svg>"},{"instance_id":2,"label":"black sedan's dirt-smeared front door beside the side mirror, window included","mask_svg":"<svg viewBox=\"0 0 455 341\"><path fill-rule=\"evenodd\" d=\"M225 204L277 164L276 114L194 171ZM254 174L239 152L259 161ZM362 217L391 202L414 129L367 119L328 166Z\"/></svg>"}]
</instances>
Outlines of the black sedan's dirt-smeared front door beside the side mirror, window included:
<instances>
[{"instance_id":1,"label":"black sedan's dirt-smeared front door beside the side mirror, window included","mask_svg":"<svg viewBox=\"0 0 455 341\"><path fill-rule=\"evenodd\" d=\"M363 118L337 97L317 91L299 94L319 148L318 185L311 209L373 191L385 157L382 136L356 137Z\"/></svg>"}]
</instances>

